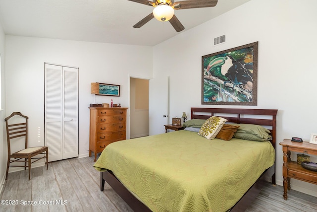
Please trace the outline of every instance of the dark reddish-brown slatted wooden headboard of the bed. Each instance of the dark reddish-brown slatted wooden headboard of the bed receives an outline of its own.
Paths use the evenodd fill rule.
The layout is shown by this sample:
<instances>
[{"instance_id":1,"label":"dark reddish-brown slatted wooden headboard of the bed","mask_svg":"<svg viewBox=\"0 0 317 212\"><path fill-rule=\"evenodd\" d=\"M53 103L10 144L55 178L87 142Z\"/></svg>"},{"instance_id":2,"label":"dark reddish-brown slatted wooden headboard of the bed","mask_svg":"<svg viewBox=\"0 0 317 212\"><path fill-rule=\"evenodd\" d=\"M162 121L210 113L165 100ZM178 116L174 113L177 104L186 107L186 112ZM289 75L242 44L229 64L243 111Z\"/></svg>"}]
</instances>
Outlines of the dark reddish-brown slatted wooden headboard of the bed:
<instances>
[{"instance_id":1,"label":"dark reddish-brown slatted wooden headboard of the bed","mask_svg":"<svg viewBox=\"0 0 317 212\"><path fill-rule=\"evenodd\" d=\"M275 148L277 110L270 109L234 109L234 108L191 108L191 119L208 119L220 116L231 123L256 124L270 130L271 143Z\"/></svg>"}]
</instances>

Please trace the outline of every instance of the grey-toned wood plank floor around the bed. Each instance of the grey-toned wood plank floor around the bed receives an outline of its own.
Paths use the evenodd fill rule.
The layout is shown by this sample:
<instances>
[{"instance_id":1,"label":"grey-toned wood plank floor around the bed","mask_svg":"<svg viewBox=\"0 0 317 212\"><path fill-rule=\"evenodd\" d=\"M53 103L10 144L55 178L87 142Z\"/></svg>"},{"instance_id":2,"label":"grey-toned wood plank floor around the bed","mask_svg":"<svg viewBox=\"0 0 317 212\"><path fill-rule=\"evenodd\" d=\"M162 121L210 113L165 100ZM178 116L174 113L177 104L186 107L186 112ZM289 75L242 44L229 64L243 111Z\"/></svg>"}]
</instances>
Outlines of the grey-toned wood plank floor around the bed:
<instances>
[{"instance_id":1,"label":"grey-toned wood plank floor around the bed","mask_svg":"<svg viewBox=\"0 0 317 212\"><path fill-rule=\"evenodd\" d=\"M1 204L0 212L132 212L107 184L104 192L100 191L100 173L93 164L93 157L51 162L49 170L45 166L33 168L30 181L27 170L9 173L0 199L17 204ZM28 201L36 201L37 205ZM316 197L291 190L285 201L283 188L267 183L247 212L314 212L316 209Z\"/></svg>"}]
</instances>

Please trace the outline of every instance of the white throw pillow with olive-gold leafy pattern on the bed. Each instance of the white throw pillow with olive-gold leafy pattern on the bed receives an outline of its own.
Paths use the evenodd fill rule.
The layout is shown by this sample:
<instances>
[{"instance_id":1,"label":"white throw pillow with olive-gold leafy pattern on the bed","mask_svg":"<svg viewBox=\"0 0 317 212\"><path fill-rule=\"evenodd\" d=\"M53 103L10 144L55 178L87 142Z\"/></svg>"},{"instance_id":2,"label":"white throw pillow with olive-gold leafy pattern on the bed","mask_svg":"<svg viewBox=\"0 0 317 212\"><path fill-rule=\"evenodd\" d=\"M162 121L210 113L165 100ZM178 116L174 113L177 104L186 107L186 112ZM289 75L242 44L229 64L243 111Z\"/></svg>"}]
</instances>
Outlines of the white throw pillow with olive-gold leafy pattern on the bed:
<instances>
[{"instance_id":1,"label":"white throw pillow with olive-gold leafy pattern on the bed","mask_svg":"<svg viewBox=\"0 0 317 212\"><path fill-rule=\"evenodd\" d=\"M214 139L226 121L227 120L224 118L211 116L203 124L200 131L198 132L198 135L201 135L209 140Z\"/></svg>"}]
</instances>

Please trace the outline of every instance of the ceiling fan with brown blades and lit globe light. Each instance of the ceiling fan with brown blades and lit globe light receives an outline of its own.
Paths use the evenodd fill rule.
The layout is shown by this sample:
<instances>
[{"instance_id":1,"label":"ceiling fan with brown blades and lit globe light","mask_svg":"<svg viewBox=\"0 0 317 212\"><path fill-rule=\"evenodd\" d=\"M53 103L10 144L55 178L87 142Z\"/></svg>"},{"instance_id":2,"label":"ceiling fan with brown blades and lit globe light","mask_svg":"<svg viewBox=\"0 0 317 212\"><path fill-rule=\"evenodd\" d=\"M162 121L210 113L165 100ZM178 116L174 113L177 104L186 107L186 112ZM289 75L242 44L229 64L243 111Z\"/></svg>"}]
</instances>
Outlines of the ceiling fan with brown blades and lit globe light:
<instances>
[{"instance_id":1,"label":"ceiling fan with brown blades and lit globe light","mask_svg":"<svg viewBox=\"0 0 317 212\"><path fill-rule=\"evenodd\" d=\"M184 30L184 26L174 15L174 9L190 9L190 8L201 8L201 7L212 7L215 6L218 0L130 0L137 3L146 4L155 7L153 12L143 18L141 21L136 23L133 27L140 28L152 18L156 18L159 21L169 21L177 32Z\"/></svg>"}]
</instances>

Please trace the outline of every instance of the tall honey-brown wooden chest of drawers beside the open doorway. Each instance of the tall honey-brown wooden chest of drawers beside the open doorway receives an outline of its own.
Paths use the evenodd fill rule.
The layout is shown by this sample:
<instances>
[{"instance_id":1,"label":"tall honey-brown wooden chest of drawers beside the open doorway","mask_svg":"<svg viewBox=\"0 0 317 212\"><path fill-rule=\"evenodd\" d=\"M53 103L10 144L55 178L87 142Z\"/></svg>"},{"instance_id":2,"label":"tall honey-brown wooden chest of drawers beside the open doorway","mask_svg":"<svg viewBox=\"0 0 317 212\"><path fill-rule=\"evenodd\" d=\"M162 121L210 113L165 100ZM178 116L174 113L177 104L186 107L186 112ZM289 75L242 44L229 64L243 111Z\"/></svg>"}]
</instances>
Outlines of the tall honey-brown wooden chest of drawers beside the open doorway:
<instances>
[{"instance_id":1,"label":"tall honey-brown wooden chest of drawers beside the open doorway","mask_svg":"<svg viewBox=\"0 0 317 212\"><path fill-rule=\"evenodd\" d=\"M93 151L95 154L94 161L96 161L97 153L102 152L109 143L126 139L128 108L91 107L89 109L89 156L92 155Z\"/></svg>"}]
</instances>

